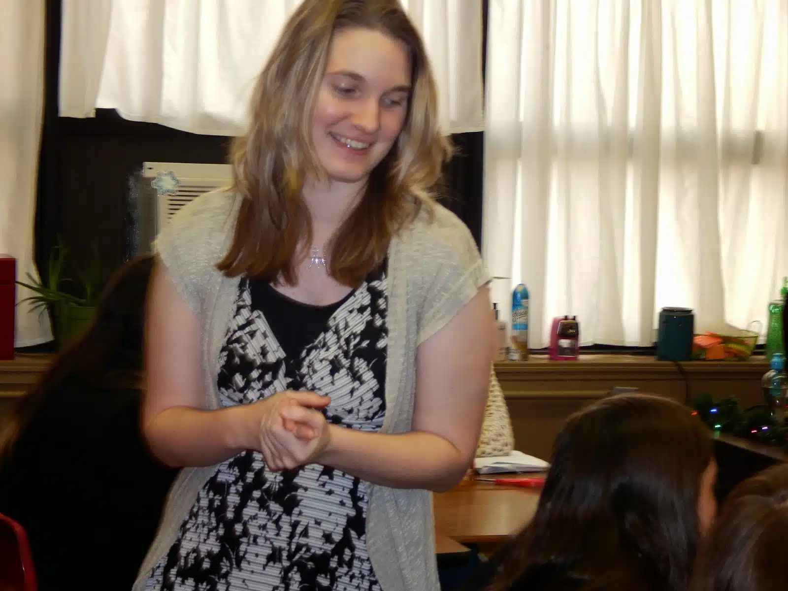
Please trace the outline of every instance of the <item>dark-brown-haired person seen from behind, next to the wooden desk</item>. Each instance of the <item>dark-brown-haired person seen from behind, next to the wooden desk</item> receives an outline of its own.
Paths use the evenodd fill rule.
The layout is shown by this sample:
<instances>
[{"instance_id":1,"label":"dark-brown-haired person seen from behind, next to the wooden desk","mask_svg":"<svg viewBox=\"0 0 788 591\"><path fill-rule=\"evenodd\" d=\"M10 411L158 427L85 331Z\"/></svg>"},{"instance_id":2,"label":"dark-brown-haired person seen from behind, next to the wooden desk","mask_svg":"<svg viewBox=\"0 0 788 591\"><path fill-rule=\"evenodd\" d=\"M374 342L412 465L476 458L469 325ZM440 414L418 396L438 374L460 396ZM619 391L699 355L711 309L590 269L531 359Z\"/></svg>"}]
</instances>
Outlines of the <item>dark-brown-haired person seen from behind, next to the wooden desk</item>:
<instances>
[{"instance_id":1,"label":"dark-brown-haired person seen from behind, next to the wooden desk","mask_svg":"<svg viewBox=\"0 0 788 591\"><path fill-rule=\"evenodd\" d=\"M708 429L686 407L600 400L559 433L533 522L486 588L683 591L716 513L715 478Z\"/></svg>"}]
</instances>

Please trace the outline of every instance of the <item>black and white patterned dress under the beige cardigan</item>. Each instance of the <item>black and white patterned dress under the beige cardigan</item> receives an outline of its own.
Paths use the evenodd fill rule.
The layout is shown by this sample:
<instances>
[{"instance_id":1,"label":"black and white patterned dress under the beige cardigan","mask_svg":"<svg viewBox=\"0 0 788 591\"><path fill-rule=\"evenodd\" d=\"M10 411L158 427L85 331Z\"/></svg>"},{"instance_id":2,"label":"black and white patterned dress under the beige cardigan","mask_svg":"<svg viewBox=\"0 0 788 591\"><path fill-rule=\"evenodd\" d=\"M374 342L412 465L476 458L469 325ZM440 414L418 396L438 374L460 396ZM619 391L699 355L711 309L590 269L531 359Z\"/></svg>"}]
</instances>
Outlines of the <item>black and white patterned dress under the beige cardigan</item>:
<instances>
[{"instance_id":1,"label":"black and white patterned dress under the beige cardigan","mask_svg":"<svg viewBox=\"0 0 788 591\"><path fill-rule=\"evenodd\" d=\"M311 390L331 396L329 422L380 429L387 305L385 265L329 307L241 281L221 351L222 405ZM146 591L380 589L366 551L366 507L365 482L340 470L272 472L258 452L236 455L199 492Z\"/></svg>"}]
</instances>

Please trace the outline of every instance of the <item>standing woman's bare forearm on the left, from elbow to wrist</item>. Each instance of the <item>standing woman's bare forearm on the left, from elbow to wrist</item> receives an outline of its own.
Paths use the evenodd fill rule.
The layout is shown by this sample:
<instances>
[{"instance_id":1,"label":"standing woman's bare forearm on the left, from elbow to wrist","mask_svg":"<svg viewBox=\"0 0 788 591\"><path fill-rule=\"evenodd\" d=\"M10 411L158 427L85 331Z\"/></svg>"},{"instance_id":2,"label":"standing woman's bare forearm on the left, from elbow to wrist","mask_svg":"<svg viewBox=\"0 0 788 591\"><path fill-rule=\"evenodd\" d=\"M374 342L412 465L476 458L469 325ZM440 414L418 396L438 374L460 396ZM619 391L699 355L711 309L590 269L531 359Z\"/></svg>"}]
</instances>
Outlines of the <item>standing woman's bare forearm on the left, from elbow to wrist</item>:
<instances>
[{"instance_id":1,"label":"standing woman's bare forearm on the left, from elbow to wrist","mask_svg":"<svg viewBox=\"0 0 788 591\"><path fill-rule=\"evenodd\" d=\"M213 466L248 448L243 407L203 411L170 407L143 426L154 455L168 466Z\"/></svg>"}]
</instances>

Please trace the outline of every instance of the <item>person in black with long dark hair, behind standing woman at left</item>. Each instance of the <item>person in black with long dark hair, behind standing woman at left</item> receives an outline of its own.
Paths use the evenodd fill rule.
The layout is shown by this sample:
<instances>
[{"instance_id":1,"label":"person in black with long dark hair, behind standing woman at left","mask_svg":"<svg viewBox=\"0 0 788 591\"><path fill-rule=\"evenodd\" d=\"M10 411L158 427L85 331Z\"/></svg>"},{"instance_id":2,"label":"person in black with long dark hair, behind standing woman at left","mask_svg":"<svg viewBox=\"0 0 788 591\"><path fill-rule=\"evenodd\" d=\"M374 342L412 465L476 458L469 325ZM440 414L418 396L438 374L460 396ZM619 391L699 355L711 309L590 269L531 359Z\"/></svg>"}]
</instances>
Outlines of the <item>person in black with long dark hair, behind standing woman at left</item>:
<instances>
[{"instance_id":1,"label":"person in black with long dark hair, behind standing woman at left","mask_svg":"<svg viewBox=\"0 0 788 591\"><path fill-rule=\"evenodd\" d=\"M58 355L0 433L0 513L28 533L39 589L129 589L175 476L139 431L153 258L110 279L91 328Z\"/></svg>"}]
</instances>

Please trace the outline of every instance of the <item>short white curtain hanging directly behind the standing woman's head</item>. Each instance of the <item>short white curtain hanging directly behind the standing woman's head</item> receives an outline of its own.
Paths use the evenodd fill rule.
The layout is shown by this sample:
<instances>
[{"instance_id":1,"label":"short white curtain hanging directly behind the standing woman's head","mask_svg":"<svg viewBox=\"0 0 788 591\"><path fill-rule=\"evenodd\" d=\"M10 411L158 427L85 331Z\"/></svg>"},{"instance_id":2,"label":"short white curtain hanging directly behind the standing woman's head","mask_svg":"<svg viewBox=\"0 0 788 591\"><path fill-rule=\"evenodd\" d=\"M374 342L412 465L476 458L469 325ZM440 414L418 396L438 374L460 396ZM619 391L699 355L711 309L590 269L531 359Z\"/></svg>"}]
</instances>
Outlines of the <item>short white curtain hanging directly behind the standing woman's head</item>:
<instances>
[{"instance_id":1,"label":"short white curtain hanging directly behind the standing woman's head","mask_svg":"<svg viewBox=\"0 0 788 591\"><path fill-rule=\"evenodd\" d=\"M238 135L299 0L63 0L60 114ZM402 0L422 32L447 133L481 130L481 2Z\"/></svg>"}]
</instances>

